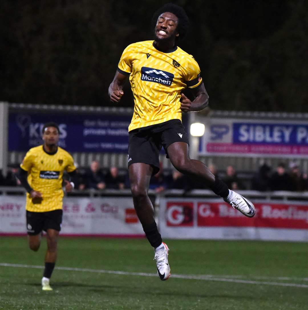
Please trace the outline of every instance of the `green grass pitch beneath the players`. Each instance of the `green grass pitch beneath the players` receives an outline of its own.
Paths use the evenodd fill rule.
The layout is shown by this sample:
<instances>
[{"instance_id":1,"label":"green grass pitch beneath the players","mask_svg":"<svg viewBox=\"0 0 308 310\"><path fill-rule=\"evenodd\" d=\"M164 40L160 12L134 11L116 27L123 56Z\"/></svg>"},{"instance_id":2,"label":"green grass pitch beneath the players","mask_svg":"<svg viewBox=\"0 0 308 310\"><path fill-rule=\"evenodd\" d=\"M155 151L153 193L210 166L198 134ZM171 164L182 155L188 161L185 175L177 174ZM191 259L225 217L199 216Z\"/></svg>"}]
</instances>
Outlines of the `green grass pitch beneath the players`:
<instances>
[{"instance_id":1,"label":"green grass pitch beneath the players","mask_svg":"<svg viewBox=\"0 0 308 310\"><path fill-rule=\"evenodd\" d=\"M54 290L46 292L41 290L40 284L43 269L0 265L0 309L307 309L306 243L165 242L170 248L171 277L168 281L161 281L157 275L55 269L51 278ZM154 252L146 239L60 237L58 248L58 267L156 272L152 261ZM45 237L38 252L28 249L25 237L0 237L0 263L43 266L45 251ZM183 279L172 277L172 274L210 274L231 282ZM234 280L254 281L254 284Z\"/></svg>"}]
</instances>

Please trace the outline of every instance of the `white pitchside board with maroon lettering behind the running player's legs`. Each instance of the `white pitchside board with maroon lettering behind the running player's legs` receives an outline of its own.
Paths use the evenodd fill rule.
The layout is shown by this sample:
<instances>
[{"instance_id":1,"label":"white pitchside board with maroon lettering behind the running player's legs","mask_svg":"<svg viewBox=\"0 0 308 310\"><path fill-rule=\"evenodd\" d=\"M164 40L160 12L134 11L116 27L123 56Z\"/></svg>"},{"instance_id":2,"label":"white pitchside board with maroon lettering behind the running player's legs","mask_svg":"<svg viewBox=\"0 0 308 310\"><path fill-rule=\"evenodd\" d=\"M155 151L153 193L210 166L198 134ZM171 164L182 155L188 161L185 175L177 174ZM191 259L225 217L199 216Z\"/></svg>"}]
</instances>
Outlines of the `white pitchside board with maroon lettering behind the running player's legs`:
<instances>
[{"instance_id":1,"label":"white pitchside board with maroon lettering behind the running player's legs","mask_svg":"<svg viewBox=\"0 0 308 310\"><path fill-rule=\"evenodd\" d=\"M26 233L25 197L0 196L0 234ZM130 197L64 197L61 235L142 237Z\"/></svg>"}]
</instances>

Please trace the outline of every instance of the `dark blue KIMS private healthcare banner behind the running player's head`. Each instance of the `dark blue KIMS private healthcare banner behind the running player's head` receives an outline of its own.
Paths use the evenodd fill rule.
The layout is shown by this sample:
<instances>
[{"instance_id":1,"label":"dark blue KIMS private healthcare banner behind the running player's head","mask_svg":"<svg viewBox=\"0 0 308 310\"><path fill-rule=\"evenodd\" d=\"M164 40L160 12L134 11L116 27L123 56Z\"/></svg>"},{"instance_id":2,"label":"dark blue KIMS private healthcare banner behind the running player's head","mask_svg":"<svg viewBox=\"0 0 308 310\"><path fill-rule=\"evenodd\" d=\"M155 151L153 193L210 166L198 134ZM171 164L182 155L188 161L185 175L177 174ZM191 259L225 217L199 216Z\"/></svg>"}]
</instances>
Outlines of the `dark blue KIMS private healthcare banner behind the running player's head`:
<instances>
[{"instance_id":1,"label":"dark blue KIMS private healthcare banner behind the running player's head","mask_svg":"<svg viewBox=\"0 0 308 310\"><path fill-rule=\"evenodd\" d=\"M59 125L59 146L68 152L127 153L131 116L95 114L9 114L9 151L28 151L42 144L46 122Z\"/></svg>"}]
</instances>

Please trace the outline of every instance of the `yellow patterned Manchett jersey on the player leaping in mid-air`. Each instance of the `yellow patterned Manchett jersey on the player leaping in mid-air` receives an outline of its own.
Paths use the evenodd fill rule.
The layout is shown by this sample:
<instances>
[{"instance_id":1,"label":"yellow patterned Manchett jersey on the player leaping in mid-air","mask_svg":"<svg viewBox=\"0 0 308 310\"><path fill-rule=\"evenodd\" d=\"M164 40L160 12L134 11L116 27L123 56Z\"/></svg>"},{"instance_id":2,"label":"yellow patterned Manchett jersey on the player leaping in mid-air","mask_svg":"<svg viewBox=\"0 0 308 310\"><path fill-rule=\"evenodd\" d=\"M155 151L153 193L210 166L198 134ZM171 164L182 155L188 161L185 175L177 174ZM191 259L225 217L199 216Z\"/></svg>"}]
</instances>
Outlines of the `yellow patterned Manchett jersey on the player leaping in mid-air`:
<instances>
[{"instance_id":1,"label":"yellow patterned Manchett jersey on the player leaping in mid-air","mask_svg":"<svg viewBox=\"0 0 308 310\"><path fill-rule=\"evenodd\" d=\"M122 53L118 71L130 74L134 114L128 130L182 120L181 91L202 83L196 60L179 47L162 52L154 41L130 44Z\"/></svg>"}]
</instances>

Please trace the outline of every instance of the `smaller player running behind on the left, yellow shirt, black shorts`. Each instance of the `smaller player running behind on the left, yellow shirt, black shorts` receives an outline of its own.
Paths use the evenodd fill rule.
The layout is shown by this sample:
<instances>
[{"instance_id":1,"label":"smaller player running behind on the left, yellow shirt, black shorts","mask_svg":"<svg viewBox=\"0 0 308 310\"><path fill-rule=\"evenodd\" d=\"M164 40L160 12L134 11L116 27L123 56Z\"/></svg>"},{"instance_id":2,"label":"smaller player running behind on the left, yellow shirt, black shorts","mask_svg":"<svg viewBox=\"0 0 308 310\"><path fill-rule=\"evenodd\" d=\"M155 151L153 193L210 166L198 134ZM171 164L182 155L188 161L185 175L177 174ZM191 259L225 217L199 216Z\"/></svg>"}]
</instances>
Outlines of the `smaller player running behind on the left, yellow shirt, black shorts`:
<instances>
[{"instance_id":1,"label":"smaller player running behind on the left, yellow shirt, black shorts","mask_svg":"<svg viewBox=\"0 0 308 310\"><path fill-rule=\"evenodd\" d=\"M57 259L57 241L62 223L63 172L70 177L76 174L73 157L60 148L59 127L46 123L42 128L43 145L31 148L20 164L19 176L26 194L26 219L29 247L37 251L42 231L46 231L47 251L42 277L42 290L52 290L49 280ZM74 184L65 180L66 192Z\"/></svg>"}]
</instances>

